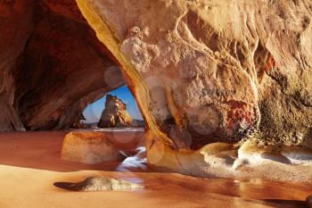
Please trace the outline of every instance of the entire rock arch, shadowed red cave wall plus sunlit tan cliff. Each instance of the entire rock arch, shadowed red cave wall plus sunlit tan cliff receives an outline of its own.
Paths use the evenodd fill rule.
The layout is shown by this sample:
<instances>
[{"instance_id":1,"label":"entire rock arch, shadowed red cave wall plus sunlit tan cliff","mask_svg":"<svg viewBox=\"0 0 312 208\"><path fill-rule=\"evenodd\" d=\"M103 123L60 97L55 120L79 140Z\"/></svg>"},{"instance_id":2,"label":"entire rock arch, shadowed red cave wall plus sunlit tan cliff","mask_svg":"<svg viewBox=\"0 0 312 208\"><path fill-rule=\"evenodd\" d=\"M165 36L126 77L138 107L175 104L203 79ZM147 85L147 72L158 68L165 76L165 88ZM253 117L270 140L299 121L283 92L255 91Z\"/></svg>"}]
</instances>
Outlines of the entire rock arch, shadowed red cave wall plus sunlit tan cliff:
<instances>
[{"instance_id":1,"label":"entire rock arch, shadowed red cave wall plus sunlit tan cliff","mask_svg":"<svg viewBox=\"0 0 312 208\"><path fill-rule=\"evenodd\" d=\"M0 4L0 129L68 127L120 66L152 164L199 174L205 147L250 138L312 148L310 1L76 2Z\"/></svg>"}]
</instances>

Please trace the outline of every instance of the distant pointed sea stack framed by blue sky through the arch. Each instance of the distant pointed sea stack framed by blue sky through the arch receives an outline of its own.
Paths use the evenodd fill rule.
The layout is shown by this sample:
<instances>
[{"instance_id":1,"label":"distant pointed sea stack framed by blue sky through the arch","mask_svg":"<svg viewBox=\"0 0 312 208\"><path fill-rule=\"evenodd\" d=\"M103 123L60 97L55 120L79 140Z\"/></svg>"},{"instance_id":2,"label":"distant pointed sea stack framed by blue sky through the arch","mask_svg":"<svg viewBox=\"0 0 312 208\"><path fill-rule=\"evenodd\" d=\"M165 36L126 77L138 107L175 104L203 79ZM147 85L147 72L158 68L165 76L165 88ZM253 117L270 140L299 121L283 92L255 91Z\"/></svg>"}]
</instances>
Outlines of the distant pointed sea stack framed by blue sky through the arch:
<instances>
[{"instance_id":1,"label":"distant pointed sea stack framed by blue sky through the arch","mask_svg":"<svg viewBox=\"0 0 312 208\"><path fill-rule=\"evenodd\" d=\"M97 124L99 128L131 127L132 118L127 113L127 105L117 96L106 96L105 108Z\"/></svg>"}]
</instances>

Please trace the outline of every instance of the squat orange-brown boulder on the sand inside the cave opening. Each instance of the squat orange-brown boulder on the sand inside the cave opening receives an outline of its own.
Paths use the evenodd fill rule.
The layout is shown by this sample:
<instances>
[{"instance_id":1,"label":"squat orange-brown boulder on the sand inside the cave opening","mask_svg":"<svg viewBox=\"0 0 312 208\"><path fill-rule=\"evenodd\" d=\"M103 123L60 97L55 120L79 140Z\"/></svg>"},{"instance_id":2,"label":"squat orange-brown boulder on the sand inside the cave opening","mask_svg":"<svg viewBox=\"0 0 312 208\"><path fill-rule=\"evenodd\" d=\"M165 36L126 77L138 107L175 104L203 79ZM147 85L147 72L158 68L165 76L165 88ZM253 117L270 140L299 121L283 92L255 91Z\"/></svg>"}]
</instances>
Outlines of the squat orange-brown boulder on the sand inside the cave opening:
<instances>
[{"instance_id":1,"label":"squat orange-brown boulder on the sand inside the cave opening","mask_svg":"<svg viewBox=\"0 0 312 208\"><path fill-rule=\"evenodd\" d=\"M70 132L62 144L62 159L88 164L124 159L111 140L99 132Z\"/></svg>"}]
</instances>

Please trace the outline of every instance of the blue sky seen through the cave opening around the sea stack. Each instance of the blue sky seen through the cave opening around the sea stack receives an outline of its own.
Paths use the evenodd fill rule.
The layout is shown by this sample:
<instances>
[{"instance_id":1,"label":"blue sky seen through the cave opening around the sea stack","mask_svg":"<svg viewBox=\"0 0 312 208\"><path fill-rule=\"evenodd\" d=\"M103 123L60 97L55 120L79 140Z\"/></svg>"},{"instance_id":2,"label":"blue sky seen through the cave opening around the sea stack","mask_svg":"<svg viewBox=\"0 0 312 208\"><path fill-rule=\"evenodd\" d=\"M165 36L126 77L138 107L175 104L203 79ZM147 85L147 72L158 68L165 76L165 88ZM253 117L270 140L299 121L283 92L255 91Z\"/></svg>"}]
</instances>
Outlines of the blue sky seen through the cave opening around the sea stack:
<instances>
[{"instance_id":1,"label":"blue sky seen through the cave opening around the sea stack","mask_svg":"<svg viewBox=\"0 0 312 208\"><path fill-rule=\"evenodd\" d=\"M127 86L122 86L112 90L108 94L112 96L118 96L125 104L127 104L127 112L131 115L132 119L143 120L142 114L137 107L135 97L131 94ZM105 108L106 96L95 101L93 104L89 104L84 113L86 118L85 123L94 123L100 121L103 109Z\"/></svg>"}]
</instances>

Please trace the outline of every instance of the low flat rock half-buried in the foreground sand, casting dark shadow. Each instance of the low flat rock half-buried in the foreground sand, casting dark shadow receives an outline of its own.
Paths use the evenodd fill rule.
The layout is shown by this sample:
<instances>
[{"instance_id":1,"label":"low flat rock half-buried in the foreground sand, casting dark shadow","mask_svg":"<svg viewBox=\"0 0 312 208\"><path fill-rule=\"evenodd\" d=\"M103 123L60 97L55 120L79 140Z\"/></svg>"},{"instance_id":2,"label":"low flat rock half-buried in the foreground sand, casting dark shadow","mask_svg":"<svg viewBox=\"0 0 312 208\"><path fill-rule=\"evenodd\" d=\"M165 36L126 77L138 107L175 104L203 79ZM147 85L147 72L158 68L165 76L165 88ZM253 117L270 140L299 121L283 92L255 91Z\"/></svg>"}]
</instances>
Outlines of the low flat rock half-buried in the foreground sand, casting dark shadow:
<instances>
[{"instance_id":1,"label":"low flat rock half-buried in the foreground sand, casting dark shadow","mask_svg":"<svg viewBox=\"0 0 312 208\"><path fill-rule=\"evenodd\" d=\"M61 187L70 191L120 191L137 190L143 186L128 182L123 179L108 179L90 177L78 183L56 182L55 187Z\"/></svg>"}]
</instances>

